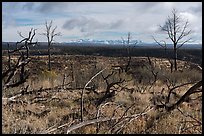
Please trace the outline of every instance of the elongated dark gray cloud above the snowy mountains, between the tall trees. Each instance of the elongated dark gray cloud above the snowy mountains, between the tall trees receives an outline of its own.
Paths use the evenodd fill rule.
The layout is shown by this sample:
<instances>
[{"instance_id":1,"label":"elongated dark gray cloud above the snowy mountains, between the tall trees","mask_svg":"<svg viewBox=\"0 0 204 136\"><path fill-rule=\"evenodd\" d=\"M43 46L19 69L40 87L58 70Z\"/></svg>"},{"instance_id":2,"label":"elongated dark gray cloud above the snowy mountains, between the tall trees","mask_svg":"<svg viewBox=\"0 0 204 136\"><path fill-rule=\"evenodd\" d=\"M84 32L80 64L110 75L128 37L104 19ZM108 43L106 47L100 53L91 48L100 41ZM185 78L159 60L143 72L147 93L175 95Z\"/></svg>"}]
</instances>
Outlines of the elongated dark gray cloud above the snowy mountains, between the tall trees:
<instances>
[{"instance_id":1,"label":"elongated dark gray cloud above the snowy mountains, between the tall trees","mask_svg":"<svg viewBox=\"0 0 204 136\"><path fill-rule=\"evenodd\" d=\"M67 20L62 26L64 29L72 30L74 28L79 29L81 32L89 32L99 29L115 29L119 28L123 24L123 20L117 20L110 23L102 23L93 18L80 17Z\"/></svg>"}]
</instances>

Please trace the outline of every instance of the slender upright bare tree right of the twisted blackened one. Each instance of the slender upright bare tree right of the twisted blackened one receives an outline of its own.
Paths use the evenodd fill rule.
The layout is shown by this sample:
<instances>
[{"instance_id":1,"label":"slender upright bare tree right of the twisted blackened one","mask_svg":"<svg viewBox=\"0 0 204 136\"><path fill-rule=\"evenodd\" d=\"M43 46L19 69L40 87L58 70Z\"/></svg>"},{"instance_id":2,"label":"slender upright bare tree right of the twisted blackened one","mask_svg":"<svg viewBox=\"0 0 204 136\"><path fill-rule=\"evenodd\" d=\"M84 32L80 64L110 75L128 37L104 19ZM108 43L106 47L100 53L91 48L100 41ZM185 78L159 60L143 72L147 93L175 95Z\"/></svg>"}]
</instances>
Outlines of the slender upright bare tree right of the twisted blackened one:
<instances>
[{"instance_id":1,"label":"slender upright bare tree right of the twisted blackened one","mask_svg":"<svg viewBox=\"0 0 204 136\"><path fill-rule=\"evenodd\" d=\"M52 46L52 42L54 40L55 36L60 36L61 33L55 33L55 30L57 29L57 26L55 26L55 28L52 29L52 21L50 21L50 23L48 24L48 22L45 22L45 27L46 27L46 32L42 33L42 35L45 35L47 37L47 43L48 43L48 70L51 71L51 62L50 62L50 58L51 58L51 46Z\"/></svg>"}]
</instances>

